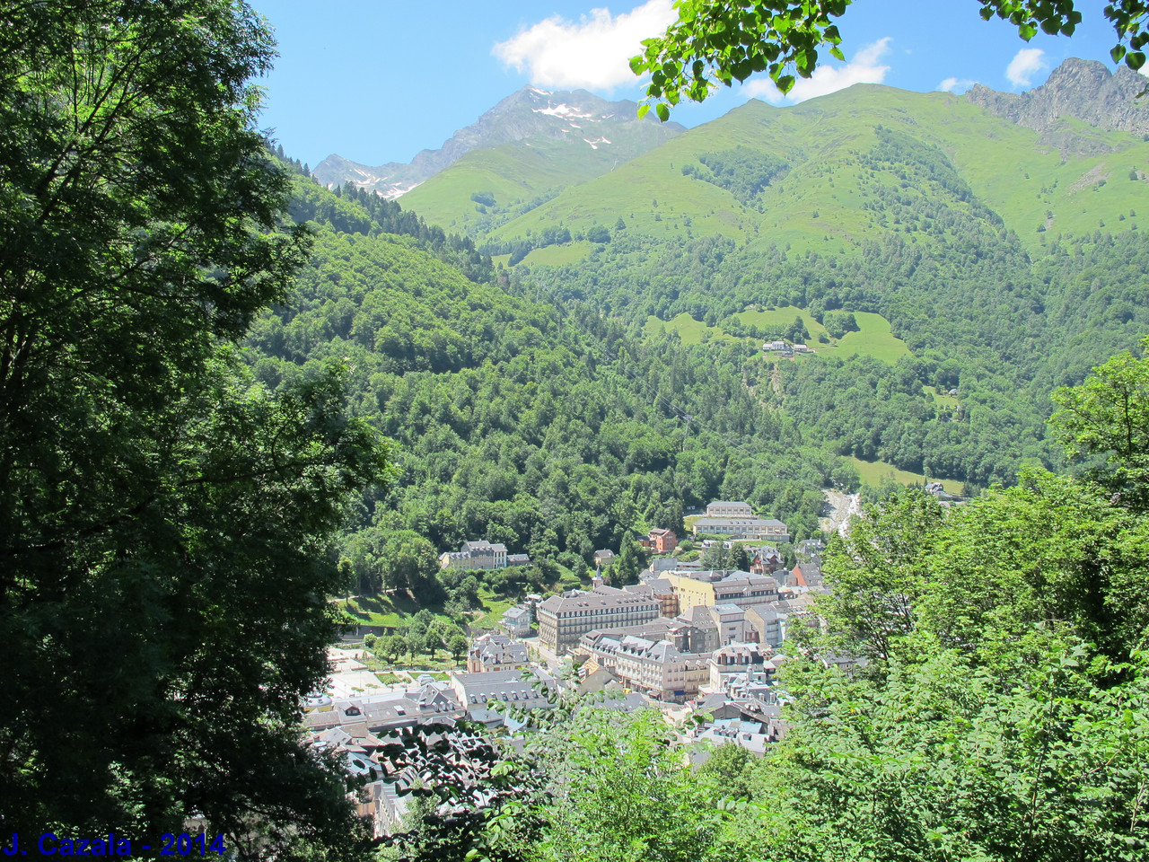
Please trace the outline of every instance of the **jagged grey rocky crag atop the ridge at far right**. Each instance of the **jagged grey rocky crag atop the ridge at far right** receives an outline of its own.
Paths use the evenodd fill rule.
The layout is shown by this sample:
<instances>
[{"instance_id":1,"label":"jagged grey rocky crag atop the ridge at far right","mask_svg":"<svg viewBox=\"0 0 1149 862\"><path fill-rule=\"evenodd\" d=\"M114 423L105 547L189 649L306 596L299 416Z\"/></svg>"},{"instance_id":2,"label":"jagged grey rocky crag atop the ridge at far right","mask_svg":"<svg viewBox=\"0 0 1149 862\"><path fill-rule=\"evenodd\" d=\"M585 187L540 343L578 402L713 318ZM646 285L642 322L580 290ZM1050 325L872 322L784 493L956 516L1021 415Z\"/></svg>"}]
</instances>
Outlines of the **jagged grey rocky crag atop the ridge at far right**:
<instances>
[{"instance_id":1,"label":"jagged grey rocky crag atop the ridge at far right","mask_svg":"<svg viewBox=\"0 0 1149 862\"><path fill-rule=\"evenodd\" d=\"M998 93L977 84L966 93L974 105L1033 129L1062 149L1094 153L1109 145L1077 133L1066 118L1095 129L1149 134L1149 97L1138 99L1149 79L1121 67L1111 72L1096 60L1071 57L1028 93Z\"/></svg>"}]
</instances>

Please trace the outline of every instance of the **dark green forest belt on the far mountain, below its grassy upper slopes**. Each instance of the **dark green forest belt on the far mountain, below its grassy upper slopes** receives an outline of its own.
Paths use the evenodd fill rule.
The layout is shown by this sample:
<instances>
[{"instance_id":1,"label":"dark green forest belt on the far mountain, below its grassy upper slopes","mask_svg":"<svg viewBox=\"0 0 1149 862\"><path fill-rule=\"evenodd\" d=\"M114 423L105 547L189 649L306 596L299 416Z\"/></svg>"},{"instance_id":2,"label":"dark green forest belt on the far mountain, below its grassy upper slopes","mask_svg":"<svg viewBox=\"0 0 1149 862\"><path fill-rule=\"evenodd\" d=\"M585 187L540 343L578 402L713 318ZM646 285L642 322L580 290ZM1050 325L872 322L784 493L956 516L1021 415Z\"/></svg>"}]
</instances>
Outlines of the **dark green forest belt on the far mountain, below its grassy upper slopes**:
<instances>
[{"instance_id":1,"label":"dark green forest belt on the far mountain, below its grassy upper slopes","mask_svg":"<svg viewBox=\"0 0 1149 862\"><path fill-rule=\"evenodd\" d=\"M1056 467L1044 428L1049 390L1080 383L1149 328L1140 233L1051 238L1031 255L941 151L877 134L878 146L856 156L861 188L876 223L897 232L853 253L740 248L687 226L671 240L616 232L576 265L520 277L619 317L633 337L649 315L686 313L735 336L804 340L800 322L768 332L735 315L796 306L840 337L853 313L880 314L916 361L782 362L781 386L758 386L762 400L791 416L807 442L971 491L1012 482L1027 461ZM753 362L741 374L763 378ZM958 390L959 408L923 391L942 385Z\"/></svg>"}]
</instances>

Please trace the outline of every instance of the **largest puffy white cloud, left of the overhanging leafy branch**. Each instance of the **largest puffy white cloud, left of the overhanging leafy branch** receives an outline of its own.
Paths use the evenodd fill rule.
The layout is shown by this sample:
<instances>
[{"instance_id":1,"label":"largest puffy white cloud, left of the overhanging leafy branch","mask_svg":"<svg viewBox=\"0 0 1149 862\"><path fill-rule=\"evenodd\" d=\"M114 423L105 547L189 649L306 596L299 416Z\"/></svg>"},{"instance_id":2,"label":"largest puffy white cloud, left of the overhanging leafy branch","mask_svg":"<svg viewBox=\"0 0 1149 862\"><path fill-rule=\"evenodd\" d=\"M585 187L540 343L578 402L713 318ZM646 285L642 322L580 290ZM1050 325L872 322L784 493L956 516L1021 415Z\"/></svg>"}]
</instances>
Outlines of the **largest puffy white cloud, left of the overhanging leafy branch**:
<instances>
[{"instance_id":1,"label":"largest puffy white cloud, left of the overhanging leafy branch","mask_svg":"<svg viewBox=\"0 0 1149 862\"><path fill-rule=\"evenodd\" d=\"M666 31L678 15L671 0L648 0L629 13L592 9L578 22L553 15L492 48L531 83L553 87L610 88L635 83L630 59L641 41Z\"/></svg>"}]
</instances>

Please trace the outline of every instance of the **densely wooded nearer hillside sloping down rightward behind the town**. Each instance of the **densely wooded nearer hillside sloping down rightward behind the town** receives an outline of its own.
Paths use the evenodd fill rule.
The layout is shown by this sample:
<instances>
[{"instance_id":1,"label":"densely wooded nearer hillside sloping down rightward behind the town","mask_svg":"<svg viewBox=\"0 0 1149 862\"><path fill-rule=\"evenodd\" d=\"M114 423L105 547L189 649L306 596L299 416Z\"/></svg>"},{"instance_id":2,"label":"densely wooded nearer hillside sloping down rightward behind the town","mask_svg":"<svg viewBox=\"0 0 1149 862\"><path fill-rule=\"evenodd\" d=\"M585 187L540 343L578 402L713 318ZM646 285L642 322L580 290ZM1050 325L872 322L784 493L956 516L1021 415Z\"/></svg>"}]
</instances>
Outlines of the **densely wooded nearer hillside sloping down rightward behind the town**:
<instances>
[{"instance_id":1,"label":"densely wooded nearer hillside sloping down rightward behind the town","mask_svg":"<svg viewBox=\"0 0 1149 862\"><path fill-rule=\"evenodd\" d=\"M643 343L593 306L537 301L470 240L364 192L299 177L293 213L313 254L247 355L273 390L345 365L354 413L396 444L398 479L344 542L360 590L441 598L434 557L476 538L549 584L715 498L817 530L840 467L762 405L741 346Z\"/></svg>"}]
</instances>

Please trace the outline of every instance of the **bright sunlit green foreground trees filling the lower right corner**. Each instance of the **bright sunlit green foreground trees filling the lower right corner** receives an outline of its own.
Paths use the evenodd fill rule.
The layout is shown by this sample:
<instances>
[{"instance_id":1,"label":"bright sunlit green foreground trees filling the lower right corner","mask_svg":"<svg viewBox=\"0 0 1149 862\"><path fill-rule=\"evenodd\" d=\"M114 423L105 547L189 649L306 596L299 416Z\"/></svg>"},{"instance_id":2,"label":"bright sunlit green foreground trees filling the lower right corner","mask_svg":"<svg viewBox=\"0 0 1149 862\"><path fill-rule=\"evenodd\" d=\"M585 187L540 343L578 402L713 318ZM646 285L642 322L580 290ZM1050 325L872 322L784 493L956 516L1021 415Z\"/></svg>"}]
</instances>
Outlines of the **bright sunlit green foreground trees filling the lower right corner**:
<instances>
[{"instance_id":1,"label":"bright sunlit green foreground trees filling the lower right corner","mask_svg":"<svg viewBox=\"0 0 1149 862\"><path fill-rule=\"evenodd\" d=\"M658 711L569 695L486 779L494 810L422 818L387 857L1143 860L1147 383L1126 355L1058 394L1078 478L951 509L903 491L834 537L763 756L695 765Z\"/></svg>"}]
</instances>

